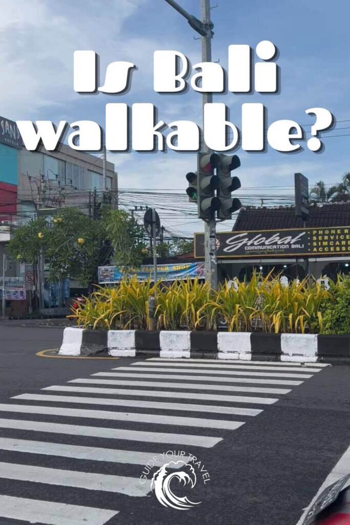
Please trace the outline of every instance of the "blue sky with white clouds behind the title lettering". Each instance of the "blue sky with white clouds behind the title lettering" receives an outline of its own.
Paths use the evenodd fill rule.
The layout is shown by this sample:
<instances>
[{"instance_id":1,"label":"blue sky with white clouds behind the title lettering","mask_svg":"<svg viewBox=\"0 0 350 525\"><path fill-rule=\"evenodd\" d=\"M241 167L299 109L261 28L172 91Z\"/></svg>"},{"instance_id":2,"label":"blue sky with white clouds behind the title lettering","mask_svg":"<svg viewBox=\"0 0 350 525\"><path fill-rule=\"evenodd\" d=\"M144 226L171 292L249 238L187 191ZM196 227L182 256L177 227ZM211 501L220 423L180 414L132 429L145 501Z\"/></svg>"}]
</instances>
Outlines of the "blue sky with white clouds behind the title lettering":
<instances>
[{"instance_id":1,"label":"blue sky with white clouds behind the title lettering","mask_svg":"<svg viewBox=\"0 0 350 525\"><path fill-rule=\"evenodd\" d=\"M179 0L199 16L200 0ZM325 150L305 149L288 155L269 148L266 154L237 152L242 166L237 175L242 188L291 186L294 172L308 176L311 184L333 183L350 171L350 37L348 0L218 0L212 10L215 24L213 60L225 67L230 44L255 47L271 40L280 51L281 94L249 97L216 96L227 104L231 120L240 127L243 102L263 102L269 122L292 119L313 123L305 114L310 107L325 107L337 119L335 130L325 133ZM216 5L216 0L213 0ZM103 7L103 9L102 9ZM47 119L69 122L91 119L103 125L107 102L153 102L165 121L190 119L200 123L199 93L174 97L153 92L153 52L182 51L194 64L200 61L200 40L164 0L17 0L7 3L0 20L0 114L10 119ZM101 71L113 60L129 60L139 68L126 96L80 96L72 87L72 56L76 49L93 49L101 57ZM341 122L345 121L345 122ZM345 129L341 129L345 128ZM349 129L346 129L349 128ZM310 126L306 128L310 129ZM334 138L331 138L334 136ZM195 168L195 154L109 154L124 188L177 188L184 191L185 174ZM257 190L255 193L259 193ZM291 193L291 189L288 193ZM246 192L247 193L247 192ZM261 193L266 193L261 191ZM286 193L286 190L283 190ZM184 201L185 202L185 201ZM243 202L244 203L244 202ZM135 201L135 204L138 204ZM151 204L151 203L150 203ZM190 208L193 212L194 208ZM169 226L171 220L164 218ZM192 220L192 222L191 222ZM178 227L183 233L201 229L194 219ZM177 219L180 224L181 220ZM229 229L226 222L219 229Z\"/></svg>"}]
</instances>

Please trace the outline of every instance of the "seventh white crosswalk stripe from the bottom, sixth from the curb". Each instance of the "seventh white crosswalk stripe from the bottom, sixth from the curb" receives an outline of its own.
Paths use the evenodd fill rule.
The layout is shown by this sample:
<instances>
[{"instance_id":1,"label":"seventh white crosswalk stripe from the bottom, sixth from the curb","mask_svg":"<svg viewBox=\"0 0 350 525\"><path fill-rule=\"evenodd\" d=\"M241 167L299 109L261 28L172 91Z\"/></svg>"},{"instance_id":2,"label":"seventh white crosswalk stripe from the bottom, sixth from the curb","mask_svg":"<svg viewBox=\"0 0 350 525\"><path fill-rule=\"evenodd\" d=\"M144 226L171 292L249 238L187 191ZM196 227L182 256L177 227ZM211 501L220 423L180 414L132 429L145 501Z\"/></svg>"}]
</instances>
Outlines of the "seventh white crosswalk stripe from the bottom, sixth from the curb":
<instances>
[{"instance_id":1,"label":"seventh white crosswalk stripe from the bottom, sixth from the curb","mask_svg":"<svg viewBox=\"0 0 350 525\"><path fill-rule=\"evenodd\" d=\"M114 394L148 397L166 397L171 399L195 399L201 401L227 401L230 403L252 403L258 405L273 405L278 401L274 397L251 397L219 394L200 394L197 392L165 392L152 390L125 390L124 388L97 388L90 386L66 386L52 385L41 388L41 390L54 390L58 392L79 392L83 394Z\"/></svg>"}]
</instances>

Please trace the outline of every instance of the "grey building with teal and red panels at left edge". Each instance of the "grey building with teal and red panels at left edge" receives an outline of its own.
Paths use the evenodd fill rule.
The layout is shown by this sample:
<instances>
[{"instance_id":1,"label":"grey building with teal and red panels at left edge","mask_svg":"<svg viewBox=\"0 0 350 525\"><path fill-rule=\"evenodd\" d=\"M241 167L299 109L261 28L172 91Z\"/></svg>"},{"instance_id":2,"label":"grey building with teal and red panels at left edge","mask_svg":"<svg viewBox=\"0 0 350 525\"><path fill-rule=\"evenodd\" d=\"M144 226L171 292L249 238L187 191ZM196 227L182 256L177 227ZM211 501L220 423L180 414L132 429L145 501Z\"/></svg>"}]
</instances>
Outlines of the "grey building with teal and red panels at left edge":
<instances>
[{"instance_id":1,"label":"grey building with teal and red panels at left edge","mask_svg":"<svg viewBox=\"0 0 350 525\"><path fill-rule=\"evenodd\" d=\"M27 151L16 123L0 117L0 280L5 247L17 226L35 218L40 209L73 206L93 216L94 206L103 198L118 207L118 174L112 162L106 162L104 172L102 158L65 144L57 152L43 147ZM5 282L12 277L22 277L23 286L30 288L25 265L7 261ZM13 306L9 297L8 308Z\"/></svg>"}]
</instances>

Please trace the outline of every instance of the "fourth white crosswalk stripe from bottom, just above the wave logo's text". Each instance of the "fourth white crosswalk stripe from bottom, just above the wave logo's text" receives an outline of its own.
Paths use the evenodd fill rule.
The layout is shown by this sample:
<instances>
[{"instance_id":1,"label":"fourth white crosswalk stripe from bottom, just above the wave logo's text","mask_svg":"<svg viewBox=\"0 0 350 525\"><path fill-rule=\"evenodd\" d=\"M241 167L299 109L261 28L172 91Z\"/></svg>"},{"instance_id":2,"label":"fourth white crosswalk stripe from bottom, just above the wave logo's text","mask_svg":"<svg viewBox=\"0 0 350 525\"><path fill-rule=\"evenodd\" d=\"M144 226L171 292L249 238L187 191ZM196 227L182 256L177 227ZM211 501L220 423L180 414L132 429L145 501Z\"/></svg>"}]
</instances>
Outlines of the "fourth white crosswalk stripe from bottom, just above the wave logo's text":
<instances>
[{"instance_id":1,"label":"fourth white crosswalk stripe from bottom, just above the wave logo's text","mask_svg":"<svg viewBox=\"0 0 350 525\"><path fill-rule=\"evenodd\" d=\"M34 430L52 434L69 434L72 436L89 436L106 439L126 439L149 443L169 443L174 445L194 445L211 448L219 443L221 437L195 436L190 434L166 434L164 432L144 432L124 430L121 428L103 428L94 426L66 425L44 421L26 421L25 419L0 419L0 428Z\"/></svg>"}]
</instances>

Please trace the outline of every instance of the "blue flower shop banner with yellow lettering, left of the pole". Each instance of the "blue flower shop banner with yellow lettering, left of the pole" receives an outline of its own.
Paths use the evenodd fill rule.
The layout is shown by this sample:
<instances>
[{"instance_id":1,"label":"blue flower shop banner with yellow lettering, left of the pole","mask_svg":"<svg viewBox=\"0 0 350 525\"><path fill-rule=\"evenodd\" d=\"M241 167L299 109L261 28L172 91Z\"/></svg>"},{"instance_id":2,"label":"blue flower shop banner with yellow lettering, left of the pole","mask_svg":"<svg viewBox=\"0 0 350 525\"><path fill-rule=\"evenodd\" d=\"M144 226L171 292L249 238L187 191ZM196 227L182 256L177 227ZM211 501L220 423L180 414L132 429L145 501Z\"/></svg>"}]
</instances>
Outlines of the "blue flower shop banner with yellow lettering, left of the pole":
<instances>
[{"instance_id":1,"label":"blue flower shop banner with yellow lettering, left of the pole","mask_svg":"<svg viewBox=\"0 0 350 525\"><path fill-rule=\"evenodd\" d=\"M149 278L153 280L153 265L143 265L140 269L123 273L116 266L99 266L99 283L108 284L119 282L124 277L135 276L139 281ZM167 264L157 266L157 279L162 281L176 281L177 279L194 279L195 277L204 278L203 262L185 262L179 264Z\"/></svg>"}]
</instances>

